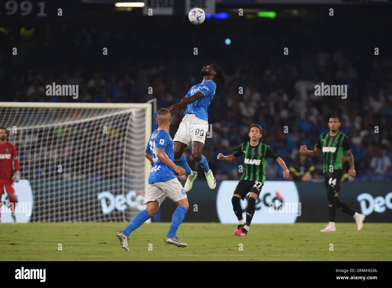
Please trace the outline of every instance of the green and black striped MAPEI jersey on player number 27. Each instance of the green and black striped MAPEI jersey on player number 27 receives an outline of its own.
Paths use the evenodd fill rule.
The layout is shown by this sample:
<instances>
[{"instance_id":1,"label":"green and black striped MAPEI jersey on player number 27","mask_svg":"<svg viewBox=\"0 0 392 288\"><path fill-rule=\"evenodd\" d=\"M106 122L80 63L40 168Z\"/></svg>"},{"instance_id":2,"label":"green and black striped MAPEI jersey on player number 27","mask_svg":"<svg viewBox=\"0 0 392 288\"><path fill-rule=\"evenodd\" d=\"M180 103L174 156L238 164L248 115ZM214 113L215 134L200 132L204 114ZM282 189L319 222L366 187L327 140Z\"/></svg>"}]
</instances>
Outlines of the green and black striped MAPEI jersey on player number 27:
<instances>
[{"instance_id":1,"label":"green and black striped MAPEI jersey on player number 27","mask_svg":"<svg viewBox=\"0 0 392 288\"><path fill-rule=\"evenodd\" d=\"M252 146L249 141L241 143L234 149L234 157L238 158L242 154L244 154L244 172L241 180L264 183L267 158L277 159L278 155L269 146L261 142Z\"/></svg>"}]
</instances>

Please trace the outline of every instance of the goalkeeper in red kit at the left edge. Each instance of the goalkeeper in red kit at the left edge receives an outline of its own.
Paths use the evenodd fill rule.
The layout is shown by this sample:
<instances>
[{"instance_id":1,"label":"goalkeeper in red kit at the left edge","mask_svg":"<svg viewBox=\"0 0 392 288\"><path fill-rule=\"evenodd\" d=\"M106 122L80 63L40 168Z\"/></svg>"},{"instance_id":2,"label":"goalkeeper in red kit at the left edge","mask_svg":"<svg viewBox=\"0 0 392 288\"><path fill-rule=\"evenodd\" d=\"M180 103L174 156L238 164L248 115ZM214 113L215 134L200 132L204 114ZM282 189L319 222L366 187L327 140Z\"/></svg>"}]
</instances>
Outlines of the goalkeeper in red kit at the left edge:
<instances>
[{"instance_id":1,"label":"goalkeeper in red kit at the left edge","mask_svg":"<svg viewBox=\"0 0 392 288\"><path fill-rule=\"evenodd\" d=\"M7 191L8 194L9 206L11 207L12 221L14 224L16 224L16 195L14 190L14 181L18 182L20 179L20 164L18 159L18 152L16 152L15 145L8 142L7 137L8 130L5 127L0 127L0 200L5 188L5 191ZM15 174L13 162L15 162ZM1 202L0 205L2 205Z\"/></svg>"}]
</instances>

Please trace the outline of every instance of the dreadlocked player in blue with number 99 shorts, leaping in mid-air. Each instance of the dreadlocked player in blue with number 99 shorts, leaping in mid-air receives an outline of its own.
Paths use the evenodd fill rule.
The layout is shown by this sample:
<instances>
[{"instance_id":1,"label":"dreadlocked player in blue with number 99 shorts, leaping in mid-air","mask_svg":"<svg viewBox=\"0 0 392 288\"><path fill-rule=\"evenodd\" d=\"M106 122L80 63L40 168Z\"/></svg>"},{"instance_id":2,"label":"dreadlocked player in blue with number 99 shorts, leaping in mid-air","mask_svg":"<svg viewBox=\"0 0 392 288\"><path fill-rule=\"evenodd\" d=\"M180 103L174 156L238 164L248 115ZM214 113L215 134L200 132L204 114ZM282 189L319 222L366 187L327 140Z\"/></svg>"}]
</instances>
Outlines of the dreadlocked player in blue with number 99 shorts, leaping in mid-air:
<instances>
[{"instance_id":1,"label":"dreadlocked player in blue with number 99 shorts, leaping in mid-air","mask_svg":"<svg viewBox=\"0 0 392 288\"><path fill-rule=\"evenodd\" d=\"M173 105L167 107L169 111L179 107L187 106L176 135L174 135L174 161L179 167L183 167L187 173L185 191L191 190L193 182L198 173L189 168L187 159L183 155L185 147L192 143L192 157L199 163L205 173L208 186L211 189L216 187L216 180L210 170L207 159L201 154L203 152L206 134L208 132L207 109L215 95L215 90L223 92L226 89L225 75L221 69L215 65L207 65L200 71L203 81L192 86L184 98Z\"/></svg>"}]
</instances>

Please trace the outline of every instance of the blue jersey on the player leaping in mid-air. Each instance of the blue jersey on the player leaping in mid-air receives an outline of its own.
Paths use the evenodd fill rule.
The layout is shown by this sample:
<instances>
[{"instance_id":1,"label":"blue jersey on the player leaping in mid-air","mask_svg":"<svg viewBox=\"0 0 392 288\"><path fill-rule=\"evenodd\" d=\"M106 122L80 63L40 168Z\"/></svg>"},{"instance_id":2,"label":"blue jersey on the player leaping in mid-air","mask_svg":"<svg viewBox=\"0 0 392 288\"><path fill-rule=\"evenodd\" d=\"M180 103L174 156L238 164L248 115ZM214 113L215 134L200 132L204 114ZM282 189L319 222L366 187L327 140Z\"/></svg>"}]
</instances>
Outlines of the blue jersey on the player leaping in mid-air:
<instances>
[{"instance_id":1,"label":"blue jersey on the player leaping in mid-air","mask_svg":"<svg viewBox=\"0 0 392 288\"><path fill-rule=\"evenodd\" d=\"M191 104L188 104L184 115L187 113L193 113L197 118L208 121L207 108L211 103L212 97L215 95L215 90L216 84L212 80L203 81L197 85L192 86L192 88L189 89L188 94L185 95L186 97L192 96L199 91L204 93L204 97Z\"/></svg>"}]
</instances>

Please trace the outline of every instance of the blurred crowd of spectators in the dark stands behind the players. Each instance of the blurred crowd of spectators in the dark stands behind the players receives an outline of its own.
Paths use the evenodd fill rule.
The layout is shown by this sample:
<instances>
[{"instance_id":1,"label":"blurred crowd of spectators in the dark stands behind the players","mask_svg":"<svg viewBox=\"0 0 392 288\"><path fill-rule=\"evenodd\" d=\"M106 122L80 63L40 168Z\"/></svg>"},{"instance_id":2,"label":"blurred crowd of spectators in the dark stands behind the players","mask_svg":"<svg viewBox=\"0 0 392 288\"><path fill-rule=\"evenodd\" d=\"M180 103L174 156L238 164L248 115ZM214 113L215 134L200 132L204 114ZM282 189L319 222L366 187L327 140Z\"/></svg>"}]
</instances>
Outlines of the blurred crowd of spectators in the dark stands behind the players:
<instances>
[{"instance_id":1,"label":"blurred crowd of spectators in the dark stands behind the players","mask_svg":"<svg viewBox=\"0 0 392 288\"><path fill-rule=\"evenodd\" d=\"M248 141L251 123L261 125L261 141L270 145L285 160L287 167L306 164L308 168L314 167L308 173L310 179L320 178L321 157L300 161L298 149L300 144L313 149L318 135L328 131L329 116L336 114L341 119L340 131L352 142L356 180L392 180L391 58L368 57L364 61L358 48L349 49L350 53L343 46L326 45L321 49L315 44L318 37L310 36L311 30L305 24L302 28L297 25L296 29L303 29L303 37L309 37L308 46L313 43L314 48L299 51L300 57L267 55L284 39L286 42L294 39L290 31L293 28L288 27L276 42L258 46L260 55L267 55L260 62L254 61L254 57L261 56L254 55L254 46L250 46L261 44L261 40L247 40L250 44L241 48L241 53L235 45L217 44L218 51L212 51L208 57L203 56L208 53L201 52L207 44L200 44L200 55L189 60L190 54L185 55L184 50L197 45L191 37L187 38L189 45L185 45L186 40L178 47L173 45L170 47L173 56L165 57L157 54L157 47L135 43L141 37L138 32L123 40L124 28L70 26L48 26L41 31L37 29L36 35L29 34L29 37L24 37L22 32L13 32L21 45L20 57L7 62L5 52L0 52L0 82L7 83L3 91L11 95L7 101L143 103L157 98L159 109L180 101L192 85L201 81L198 73L203 65L209 64L206 61L211 61L221 67L228 84L227 91L216 94L208 109L211 138L206 139L203 154L216 179L241 176L242 158L227 163L218 161L216 156L218 153L231 154L239 143ZM223 28L218 24L214 29ZM230 27L225 31L227 29ZM249 30L244 37L252 36L254 31L251 27ZM2 33L2 40L7 40L4 30ZM56 33L62 33L62 37L54 36ZM272 32L265 33L266 39L272 37ZM156 43L165 43L164 35L159 35L159 31L151 37L155 37ZM120 45L122 41L129 44L129 51L114 45ZM108 58L102 56L102 47L106 46L111 55ZM91 53L96 47L100 47L98 53ZM220 49L226 50L220 52ZM97 61L98 54L101 62ZM12 71L11 75L5 72L8 69ZM47 96L45 86L53 82L79 85L79 98ZM314 86L321 82L347 85L347 99L316 96ZM152 94L149 94L149 87L152 87ZM4 97L2 99L5 101ZM172 112L172 137L184 110L185 107ZM199 169L190 151L185 153L191 168ZM348 163L345 158L343 161L347 170ZM267 179L283 179L280 166L272 159L268 161L266 173ZM301 180L302 176L295 179ZM310 179L308 176L303 180Z\"/></svg>"}]
</instances>

